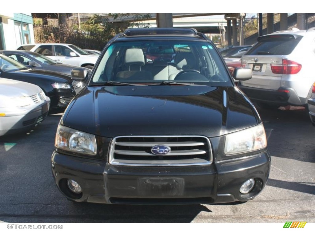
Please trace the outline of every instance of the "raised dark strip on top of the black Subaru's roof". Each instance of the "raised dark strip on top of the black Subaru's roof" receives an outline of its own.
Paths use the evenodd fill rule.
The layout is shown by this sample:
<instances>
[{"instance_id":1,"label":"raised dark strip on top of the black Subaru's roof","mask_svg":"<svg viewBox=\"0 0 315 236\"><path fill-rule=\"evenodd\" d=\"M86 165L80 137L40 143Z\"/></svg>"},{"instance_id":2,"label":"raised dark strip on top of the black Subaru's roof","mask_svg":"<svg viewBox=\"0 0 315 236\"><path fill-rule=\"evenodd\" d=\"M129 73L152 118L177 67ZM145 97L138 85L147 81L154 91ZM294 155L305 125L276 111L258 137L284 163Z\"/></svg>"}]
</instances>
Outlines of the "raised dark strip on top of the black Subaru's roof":
<instances>
[{"instance_id":1,"label":"raised dark strip on top of the black Subaru's roof","mask_svg":"<svg viewBox=\"0 0 315 236\"><path fill-rule=\"evenodd\" d=\"M197 30L193 28L132 28L126 29L123 33L124 36L137 36L137 35L186 35L196 36Z\"/></svg>"}]
</instances>

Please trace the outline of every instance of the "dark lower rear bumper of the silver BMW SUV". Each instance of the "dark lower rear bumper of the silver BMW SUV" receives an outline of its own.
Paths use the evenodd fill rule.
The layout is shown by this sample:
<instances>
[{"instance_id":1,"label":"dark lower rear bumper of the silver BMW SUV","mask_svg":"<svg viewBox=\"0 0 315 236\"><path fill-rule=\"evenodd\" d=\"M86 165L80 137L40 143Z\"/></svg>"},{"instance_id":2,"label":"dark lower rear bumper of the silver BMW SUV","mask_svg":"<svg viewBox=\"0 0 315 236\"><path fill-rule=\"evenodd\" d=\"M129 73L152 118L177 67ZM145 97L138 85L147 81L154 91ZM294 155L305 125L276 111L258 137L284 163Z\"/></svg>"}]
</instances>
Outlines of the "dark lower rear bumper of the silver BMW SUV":
<instances>
[{"instance_id":1,"label":"dark lower rear bumper of the silver BMW SUV","mask_svg":"<svg viewBox=\"0 0 315 236\"><path fill-rule=\"evenodd\" d=\"M278 90L286 90L286 92L279 92L278 90L262 89L243 86L238 83L238 87L249 97L252 101L264 102L278 106L305 106L307 104L306 98L301 98L297 95L294 89L287 87L280 87Z\"/></svg>"}]
</instances>

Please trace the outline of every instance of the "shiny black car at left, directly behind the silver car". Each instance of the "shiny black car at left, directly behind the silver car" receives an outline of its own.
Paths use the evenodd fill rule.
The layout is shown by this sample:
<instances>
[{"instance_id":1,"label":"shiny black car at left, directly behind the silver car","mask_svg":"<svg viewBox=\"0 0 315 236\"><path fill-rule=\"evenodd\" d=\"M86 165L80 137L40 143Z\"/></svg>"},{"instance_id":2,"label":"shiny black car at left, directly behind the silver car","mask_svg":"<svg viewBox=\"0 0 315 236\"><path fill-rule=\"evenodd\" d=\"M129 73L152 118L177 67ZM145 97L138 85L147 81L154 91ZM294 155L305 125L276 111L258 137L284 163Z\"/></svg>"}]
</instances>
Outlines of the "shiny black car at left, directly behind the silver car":
<instances>
[{"instance_id":1,"label":"shiny black car at left, directly behind the silver car","mask_svg":"<svg viewBox=\"0 0 315 236\"><path fill-rule=\"evenodd\" d=\"M76 95L71 76L48 70L32 70L3 54L0 54L0 77L39 86L50 98L51 109L65 108ZM77 83L79 81L73 82L74 85Z\"/></svg>"}]
</instances>

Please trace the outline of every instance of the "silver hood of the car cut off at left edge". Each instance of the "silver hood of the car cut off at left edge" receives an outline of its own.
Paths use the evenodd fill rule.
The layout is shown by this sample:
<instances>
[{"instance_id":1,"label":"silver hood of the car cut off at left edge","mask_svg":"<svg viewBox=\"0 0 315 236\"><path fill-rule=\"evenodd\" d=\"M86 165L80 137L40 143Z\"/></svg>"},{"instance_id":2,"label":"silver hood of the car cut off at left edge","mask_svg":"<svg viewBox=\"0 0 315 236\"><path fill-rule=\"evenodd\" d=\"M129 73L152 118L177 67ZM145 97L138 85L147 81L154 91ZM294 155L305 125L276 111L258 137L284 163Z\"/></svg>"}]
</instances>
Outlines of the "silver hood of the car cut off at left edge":
<instances>
[{"instance_id":1,"label":"silver hood of the car cut off at left edge","mask_svg":"<svg viewBox=\"0 0 315 236\"><path fill-rule=\"evenodd\" d=\"M0 107L9 106L12 103L8 100L10 98L30 97L41 91L41 88L34 84L0 78Z\"/></svg>"}]
</instances>

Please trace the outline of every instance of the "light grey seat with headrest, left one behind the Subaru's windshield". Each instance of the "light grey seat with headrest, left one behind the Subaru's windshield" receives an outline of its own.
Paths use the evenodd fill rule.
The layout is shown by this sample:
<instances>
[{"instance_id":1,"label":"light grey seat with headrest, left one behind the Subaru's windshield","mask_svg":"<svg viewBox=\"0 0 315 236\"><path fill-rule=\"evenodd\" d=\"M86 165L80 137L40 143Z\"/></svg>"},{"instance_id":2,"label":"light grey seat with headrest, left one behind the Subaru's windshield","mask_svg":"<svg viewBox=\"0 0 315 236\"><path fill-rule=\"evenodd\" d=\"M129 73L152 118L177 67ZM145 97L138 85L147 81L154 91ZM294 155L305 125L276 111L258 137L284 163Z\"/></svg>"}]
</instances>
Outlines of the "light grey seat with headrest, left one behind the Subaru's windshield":
<instances>
[{"instance_id":1,"label":"light grey seat with headrest, left one behind the Subaru's windshield","mask_svg":"<svg viewBox=\"0 0 315 236\"><path fill-rule=\"evenodd\" d=\"M145 56L141 48L128 48L124 65L128 70L119 71L116 75L118 80L153 80L150 71L141 70L145 65Z\"/></svg>"}]
</instances>

